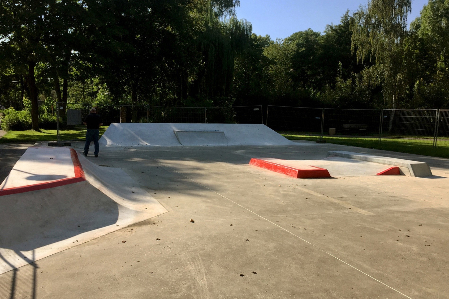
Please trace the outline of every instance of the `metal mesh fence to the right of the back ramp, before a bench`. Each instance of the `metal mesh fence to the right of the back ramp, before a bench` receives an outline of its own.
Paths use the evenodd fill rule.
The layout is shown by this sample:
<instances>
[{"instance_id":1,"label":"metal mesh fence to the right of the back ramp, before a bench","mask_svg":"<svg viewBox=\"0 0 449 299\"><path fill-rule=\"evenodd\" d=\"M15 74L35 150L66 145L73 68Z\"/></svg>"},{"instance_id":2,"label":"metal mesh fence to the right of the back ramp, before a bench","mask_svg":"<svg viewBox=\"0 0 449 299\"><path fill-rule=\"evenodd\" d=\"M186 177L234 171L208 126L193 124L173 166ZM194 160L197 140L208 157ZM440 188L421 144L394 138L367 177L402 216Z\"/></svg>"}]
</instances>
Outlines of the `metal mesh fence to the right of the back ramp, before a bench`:
<instances>
[{"instance_id":1,"label":"metal mesh fence to the right of the back ramp, before a bench","mask_svg":"<svg viewBox=\"0 0 449 299\"><path fill-rule=\"evenodd\" d=\"M449 146L449 110L366 110L268 106L266 124L301 135L347 136Z\"/></svg>"}]
</instances>

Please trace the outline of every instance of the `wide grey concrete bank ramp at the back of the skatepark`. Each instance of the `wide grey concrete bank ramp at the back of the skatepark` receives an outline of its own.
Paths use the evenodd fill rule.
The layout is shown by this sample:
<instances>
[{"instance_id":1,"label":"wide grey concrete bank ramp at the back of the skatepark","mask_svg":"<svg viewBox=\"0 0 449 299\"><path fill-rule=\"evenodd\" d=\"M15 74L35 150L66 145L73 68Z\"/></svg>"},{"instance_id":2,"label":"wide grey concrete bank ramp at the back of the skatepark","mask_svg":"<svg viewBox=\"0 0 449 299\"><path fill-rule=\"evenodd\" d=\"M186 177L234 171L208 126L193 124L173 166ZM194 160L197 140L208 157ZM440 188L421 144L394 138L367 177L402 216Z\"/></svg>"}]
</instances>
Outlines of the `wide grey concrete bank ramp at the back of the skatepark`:
<instances>
[{"instance_id":1,"label":"wide grey concrete bank ramp at the back of the skatepark","mask_svg":"<svg viewBox=\"0 0 449 299\"><path fill-rule=\"evenodd\" d=\"M295 145L263 124L111 123L104 146Z\"/></svg>"}]
</instances>

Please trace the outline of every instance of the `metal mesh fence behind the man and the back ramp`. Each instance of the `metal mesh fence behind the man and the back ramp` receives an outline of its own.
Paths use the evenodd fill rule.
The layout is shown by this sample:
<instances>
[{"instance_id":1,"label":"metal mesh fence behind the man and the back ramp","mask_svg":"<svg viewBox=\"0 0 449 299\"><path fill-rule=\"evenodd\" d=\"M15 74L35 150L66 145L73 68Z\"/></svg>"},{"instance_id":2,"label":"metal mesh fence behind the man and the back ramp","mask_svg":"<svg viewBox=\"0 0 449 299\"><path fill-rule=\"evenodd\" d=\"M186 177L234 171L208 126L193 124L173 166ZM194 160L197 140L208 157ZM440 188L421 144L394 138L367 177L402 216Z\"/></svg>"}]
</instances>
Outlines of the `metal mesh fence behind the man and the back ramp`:
<instances>
[{"instance_id":1,"label":"metal mesh fence behind the man and the back ramp","mask_svg":"<svg viewBox=\"0 0 449 299\"><path fill-rule=\"evenodd\" d=\"M92 105L57 103L57 141L84 136L83 121L94 107L111 123L263 123L262 106L233 107L162 107L132 105Z\"/></svg>"}]
</instances>

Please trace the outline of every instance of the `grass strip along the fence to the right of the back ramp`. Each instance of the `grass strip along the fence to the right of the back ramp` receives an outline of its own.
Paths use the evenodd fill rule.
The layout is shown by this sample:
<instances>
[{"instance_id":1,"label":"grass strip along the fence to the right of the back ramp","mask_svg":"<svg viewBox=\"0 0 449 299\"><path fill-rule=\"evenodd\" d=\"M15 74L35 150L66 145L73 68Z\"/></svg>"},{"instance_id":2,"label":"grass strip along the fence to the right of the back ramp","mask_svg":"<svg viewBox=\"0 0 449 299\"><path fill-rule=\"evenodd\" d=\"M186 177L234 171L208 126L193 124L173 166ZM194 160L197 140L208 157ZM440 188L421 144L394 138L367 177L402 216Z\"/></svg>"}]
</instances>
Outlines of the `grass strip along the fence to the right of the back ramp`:
<instances>
[{"instance_id":1,"label":"grass strip along the fence to the right of the back ramp","mask_svg":"<svg viewBox=\"0 0 449 299\"><path fill-rule=\"evenodd\" d=\"M308 136L295 132L278 132L290 140L308 140L317 141L319 136ZM408 137L408 136L407 136ZM389 137L391 138L391 137ZM327 143L364 147L367 149L384 149L392 152L418 154L432 157L449 158L449 143L447 140L440 141L437 147L433 147L433 138L419 137L419 139L382 139L378 141L377 137L358 137L358 136L323 136Z\"/></svg>"}]
</instances>

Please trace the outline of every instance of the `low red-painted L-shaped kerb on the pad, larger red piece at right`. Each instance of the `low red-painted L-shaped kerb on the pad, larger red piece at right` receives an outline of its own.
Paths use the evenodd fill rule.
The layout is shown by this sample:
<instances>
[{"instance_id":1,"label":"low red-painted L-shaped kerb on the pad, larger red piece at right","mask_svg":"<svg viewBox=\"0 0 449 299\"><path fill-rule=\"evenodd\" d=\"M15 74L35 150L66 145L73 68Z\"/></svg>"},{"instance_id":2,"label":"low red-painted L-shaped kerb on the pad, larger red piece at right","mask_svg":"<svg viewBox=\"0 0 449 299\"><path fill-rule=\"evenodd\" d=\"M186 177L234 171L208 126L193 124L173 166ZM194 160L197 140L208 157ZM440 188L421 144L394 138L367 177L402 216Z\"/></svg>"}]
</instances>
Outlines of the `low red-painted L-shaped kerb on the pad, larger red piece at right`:
<instances>
[{"instance_id":1,"label":"low red-painted L-shaped kerb on the pad, larger red piece at right","mask_svg":"<svg viewBox=\"0 0 449 299\"><path fill-rule=\"evenodd\" d=\"M329 174L329 171L327 171L327 169L316 167L316 166L310 166L310 167L314 167L316 169L298 169L298 168L294 168L294 167L290 167L290 166L286 166L286 165L282 165L282 164L278 164L278 163L274 163L274 162L270 162L270 161L266 161L266 160L262 160L262 159L257 159L257 158L251 158L250 164L257 166L257 167L265 168L265 169L268 169L268 170L271 170L271 171L274 171L277 173L282 173L287 176L292 176L297 179L331 177Z\"/></svg>"}]
</instances>

